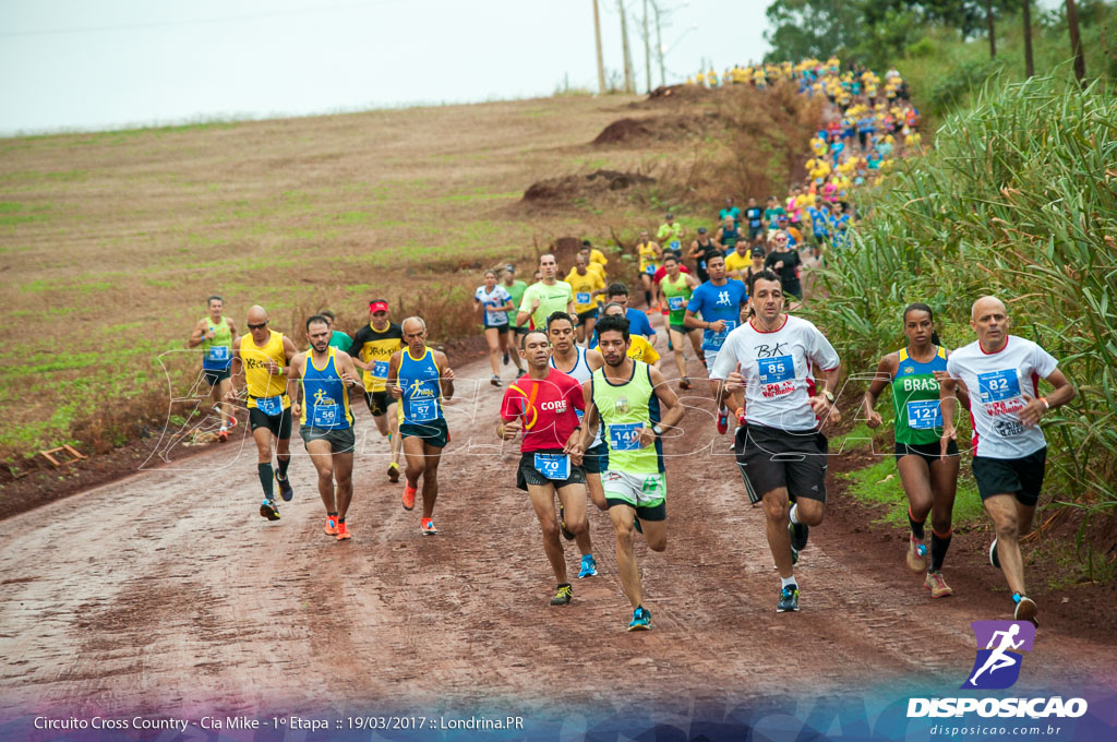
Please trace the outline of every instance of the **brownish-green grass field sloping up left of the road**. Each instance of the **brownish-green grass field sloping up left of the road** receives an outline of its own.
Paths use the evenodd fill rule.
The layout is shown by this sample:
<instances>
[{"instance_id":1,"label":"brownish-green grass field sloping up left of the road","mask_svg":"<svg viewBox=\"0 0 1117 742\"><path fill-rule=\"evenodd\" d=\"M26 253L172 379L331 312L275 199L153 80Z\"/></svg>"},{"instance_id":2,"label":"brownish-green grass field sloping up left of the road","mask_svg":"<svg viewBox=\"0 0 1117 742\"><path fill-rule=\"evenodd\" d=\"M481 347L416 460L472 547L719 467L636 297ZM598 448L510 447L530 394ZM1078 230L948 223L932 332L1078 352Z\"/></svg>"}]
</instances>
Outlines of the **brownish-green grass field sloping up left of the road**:
<instances>
[{"instance_id":1,"label":"brownish-green grass field sloping up left of the road","mask_svg":"<svg viewBox=\"0 0 1117 742\"><path fill-rule=\"evenodd\" d=\"M631 115L633 99L0 140L0 302L9 317L0 330L0 455L12 460L65 441L103 448L121 443L117 424L130 410L157 416L166 401L159 358L185 348L210 294L223 295L241 324L259 303L287 330L326 305L355 325L372 296L461 292L471 326L465 297L483 266L515 259L523 273L558 236L603 241L608 227L655 227L661 215L651 207L517 206L543 178L669 158L669 144L589 145ZM169 358L176 384L192 378L182 375L195 369L192 355ZM98 410L104 419L88 424Z\"/></svg>"}]
</instances>

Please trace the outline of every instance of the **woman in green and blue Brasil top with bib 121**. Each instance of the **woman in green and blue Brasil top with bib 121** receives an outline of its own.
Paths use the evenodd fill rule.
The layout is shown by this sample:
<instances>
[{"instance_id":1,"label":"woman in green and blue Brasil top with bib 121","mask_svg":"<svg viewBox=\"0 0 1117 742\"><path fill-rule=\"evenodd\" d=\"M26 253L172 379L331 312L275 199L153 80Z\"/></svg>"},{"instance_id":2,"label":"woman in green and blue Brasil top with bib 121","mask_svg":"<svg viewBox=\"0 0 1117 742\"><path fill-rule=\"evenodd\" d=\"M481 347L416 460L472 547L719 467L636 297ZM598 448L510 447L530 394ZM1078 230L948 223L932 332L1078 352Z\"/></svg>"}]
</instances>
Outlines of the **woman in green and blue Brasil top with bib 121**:
<instances>
[{"instance_id":1,"label":"woman in green and blue Brasil top with bib 121","mask_svg":"<svg viewBox=\"0 0 1117 742\"><path fill-rule=\"evenodd\" d=\"M938 400L938 375L946 373L946 349L938 344L935 317L926 304L910 304L904 311L907 348L880 359L877 377L865 392L865 411L870 428L882 422L873 408L885 387L892 388L896 412L896 468L908 496L907 565L924 575L932 598L954 591L943 579L943 560L951 545L951 515L958 484L958 447L953 441L947 457L941 456L943 413ZM968 400L965 400L968 407ZM930 559L927 559L924 524L930 514Z\"/></svg>"}]
</instances>

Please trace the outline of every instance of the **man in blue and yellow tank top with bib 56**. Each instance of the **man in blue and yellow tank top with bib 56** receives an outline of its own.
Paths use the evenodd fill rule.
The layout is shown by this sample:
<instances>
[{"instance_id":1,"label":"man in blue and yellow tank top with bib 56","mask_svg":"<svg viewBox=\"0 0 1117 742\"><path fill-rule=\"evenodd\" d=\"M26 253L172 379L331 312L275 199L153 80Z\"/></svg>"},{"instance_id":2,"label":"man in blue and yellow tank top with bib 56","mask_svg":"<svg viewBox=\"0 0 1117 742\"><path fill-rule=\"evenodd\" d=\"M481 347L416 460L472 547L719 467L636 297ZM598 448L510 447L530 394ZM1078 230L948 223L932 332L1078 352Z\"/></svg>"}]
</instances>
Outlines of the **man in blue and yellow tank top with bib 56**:
<instances>
[{"instance_id":1,"label":"man in blue and yellow tank top with bib 56","mask_svg":"<svg viewBox=\"0 0 1117 742\"><path fill-rule=\"evenodd\" d=\"M299 419L299 435L318 473L318 495L326 506L327 536L352 538L345 514L353 502L353 409L350 390L361 378L349 353L330 346L330 322L321 314L306 321L311 350L290 360L287 394ZM334 483L336 482L336 491Z\"/></svg>"}]
</instances>

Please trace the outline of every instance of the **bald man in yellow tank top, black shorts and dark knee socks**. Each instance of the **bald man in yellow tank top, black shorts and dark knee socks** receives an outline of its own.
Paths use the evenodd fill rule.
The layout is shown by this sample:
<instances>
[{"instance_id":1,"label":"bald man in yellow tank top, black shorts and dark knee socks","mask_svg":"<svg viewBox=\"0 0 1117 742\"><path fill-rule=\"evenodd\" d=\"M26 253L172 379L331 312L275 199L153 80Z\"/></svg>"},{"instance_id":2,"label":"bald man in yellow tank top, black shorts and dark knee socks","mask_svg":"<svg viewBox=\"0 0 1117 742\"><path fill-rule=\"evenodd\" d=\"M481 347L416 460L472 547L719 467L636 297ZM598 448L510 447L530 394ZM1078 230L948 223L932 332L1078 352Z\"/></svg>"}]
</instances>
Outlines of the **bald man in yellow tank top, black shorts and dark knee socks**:
<instances>
[{"instance_id":1,"label":"bald man in yellow tank top, black shorts and dark knee socks","mask_svg":"<svg viewBox=\"0 0 1117 742\"><path fill-rule=\"evenodd\" d=\"M256 440L256 472L264 487L260 515L279 520L279 506L273 496L271 478L279 484L285 501L294 496L287 467L290 465L290 398L287 396L287 365L298 355L290 337L268 327L262 306L248 310L248 334L232 341L232 384L226 399L237 397L245 379L248 397L248 424ZM271 468L271 439L276 440L276 469Z\"/></svg>"}]
</instances>

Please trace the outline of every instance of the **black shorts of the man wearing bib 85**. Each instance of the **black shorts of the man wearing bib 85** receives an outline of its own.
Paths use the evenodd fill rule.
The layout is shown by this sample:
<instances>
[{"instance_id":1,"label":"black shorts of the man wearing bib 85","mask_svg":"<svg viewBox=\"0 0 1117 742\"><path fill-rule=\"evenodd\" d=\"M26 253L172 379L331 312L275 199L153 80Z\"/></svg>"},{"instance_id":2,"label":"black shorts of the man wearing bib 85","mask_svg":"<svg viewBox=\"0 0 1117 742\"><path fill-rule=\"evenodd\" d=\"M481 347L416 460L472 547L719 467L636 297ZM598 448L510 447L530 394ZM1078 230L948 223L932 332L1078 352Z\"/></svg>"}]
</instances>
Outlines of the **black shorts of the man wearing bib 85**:
<instances>
[{"instance_id":1,"label":"black shorts of the man wearing bib 85","mask_svg":"<svg viewBox=\"0 0 1117 742\"><path fill-rule=\"evenodd\" d=\"M779 430L747 424L737 430L737 467L748 500L786 487L792 498L827 502L827 437L818 430Z\"/></svg>"}]
</instances>

